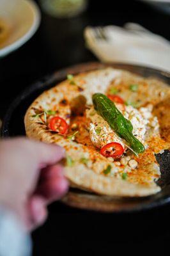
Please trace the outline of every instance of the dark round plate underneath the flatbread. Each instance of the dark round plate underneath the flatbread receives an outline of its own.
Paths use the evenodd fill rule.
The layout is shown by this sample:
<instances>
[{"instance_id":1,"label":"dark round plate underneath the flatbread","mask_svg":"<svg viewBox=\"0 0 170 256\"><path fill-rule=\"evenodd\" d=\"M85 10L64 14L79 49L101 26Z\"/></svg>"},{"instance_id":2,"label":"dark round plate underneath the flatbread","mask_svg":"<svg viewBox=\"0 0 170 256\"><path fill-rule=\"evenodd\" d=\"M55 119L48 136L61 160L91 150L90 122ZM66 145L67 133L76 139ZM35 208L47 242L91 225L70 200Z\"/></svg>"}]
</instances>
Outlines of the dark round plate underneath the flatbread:
<instances>
[{"instance_id":1,"label":"dark round plate underneath the flatbread","mask_svg":"<svg viewBox=\"0 0 170 256\"><path fill-rule=\"evenodd\" d=\"M40 95L44 90L54 86L56 83L63 81L66 74L77 74L79 72L95 70L112 66L134 72L144 77L157 77L158 79L170 84L170 74L153 68L140 67L135 65L125 65L115 63L106 65L102 63L85 63L73 67L59 70L50 76L43 77L36 83L32 84L22 92L10 105L3 120L2 136L20 136L25 135L24 115L31 102ZM162 191L153 196L144 198L112 198L110 196L100 196L92 193L80 191L79 189L70 189L68 194L63 198L63 203L80 209L102 211L102 212L134 212L141 209L151 209L160 205L169 204L170 202L170 154L166 150L164 154L157 155L162 173L158 184Z\"/></svg>"}]
</instances>

